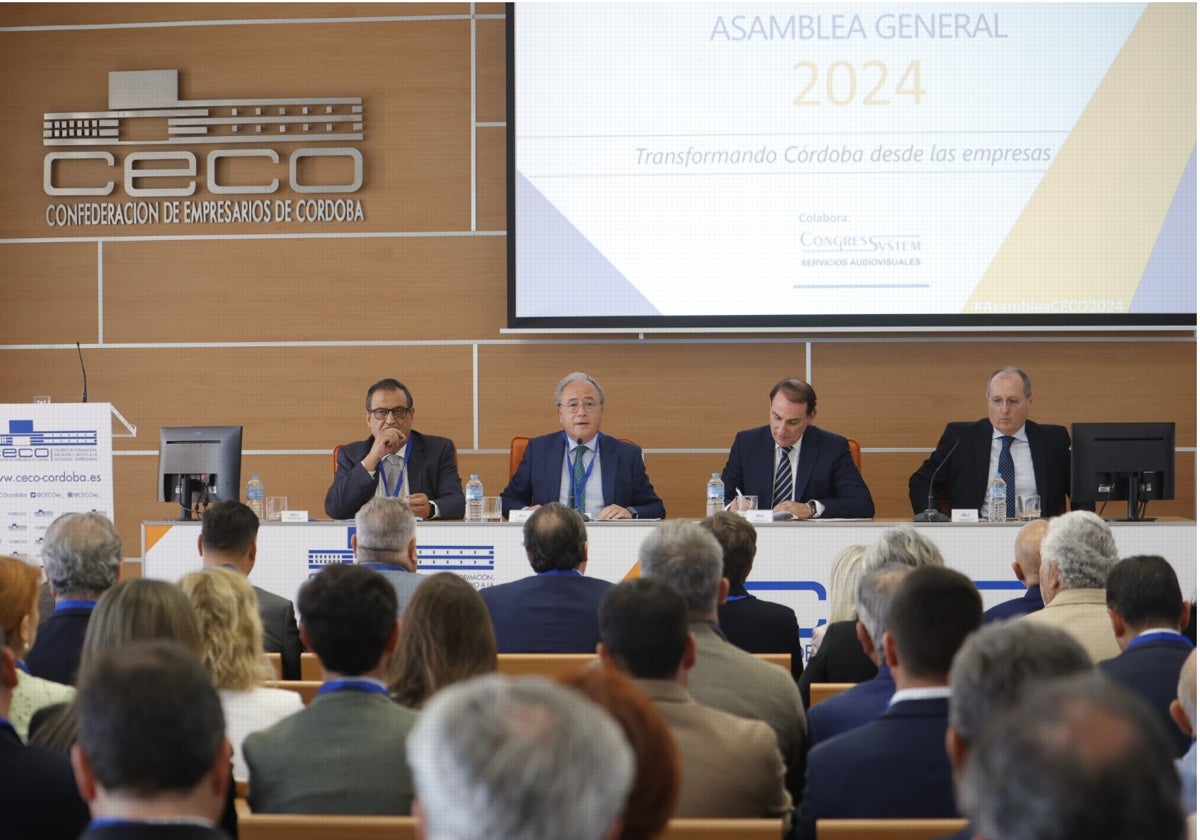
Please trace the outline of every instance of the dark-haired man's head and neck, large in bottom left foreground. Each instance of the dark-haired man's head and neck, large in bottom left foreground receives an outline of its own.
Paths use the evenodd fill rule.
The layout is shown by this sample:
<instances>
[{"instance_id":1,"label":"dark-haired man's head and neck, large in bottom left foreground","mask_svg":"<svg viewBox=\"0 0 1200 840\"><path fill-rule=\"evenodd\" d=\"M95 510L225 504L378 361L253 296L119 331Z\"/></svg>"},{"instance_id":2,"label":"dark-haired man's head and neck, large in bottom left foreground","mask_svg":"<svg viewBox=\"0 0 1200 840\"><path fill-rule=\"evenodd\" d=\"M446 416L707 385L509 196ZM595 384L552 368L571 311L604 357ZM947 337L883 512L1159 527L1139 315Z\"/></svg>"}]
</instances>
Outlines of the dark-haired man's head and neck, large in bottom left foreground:
<instances>
[{"instance_id":1,"label":"dark-haired man's head and neck, large in bottom left foreground","mask_svg":"<svg viewBox=\"0 0 1200 840\"><path fill-rule=\"evenodd\" d=\"M188 650L136 642L84 665L71 748L92 816L84 840L228 839L229 755L221 701Z\"/></svg>"}]
</instances>

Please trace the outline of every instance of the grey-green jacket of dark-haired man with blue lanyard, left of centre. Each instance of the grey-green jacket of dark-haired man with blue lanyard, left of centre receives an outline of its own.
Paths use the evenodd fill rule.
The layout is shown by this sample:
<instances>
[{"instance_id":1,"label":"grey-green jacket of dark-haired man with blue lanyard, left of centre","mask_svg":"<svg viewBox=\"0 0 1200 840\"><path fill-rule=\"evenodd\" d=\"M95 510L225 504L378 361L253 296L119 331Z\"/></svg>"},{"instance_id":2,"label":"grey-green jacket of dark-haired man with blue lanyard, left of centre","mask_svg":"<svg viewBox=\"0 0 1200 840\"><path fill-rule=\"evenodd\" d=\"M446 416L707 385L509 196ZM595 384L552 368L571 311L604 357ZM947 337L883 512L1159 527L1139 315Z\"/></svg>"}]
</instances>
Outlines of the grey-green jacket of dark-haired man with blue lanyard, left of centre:
<instances>
[{"instance_id":1,"label":"grey-green jacket of dark-haired man with blue lanyard, left of centre","mask_svg":"<svg viewBox=\"0 0 1200 840\"><path fill-rule=\"evenodd\" d=\"M266 814L400 814L413 808L404 739L418 713L380 694L332 691L246 738L246 799Z\"/></svg>"}]
</instances>

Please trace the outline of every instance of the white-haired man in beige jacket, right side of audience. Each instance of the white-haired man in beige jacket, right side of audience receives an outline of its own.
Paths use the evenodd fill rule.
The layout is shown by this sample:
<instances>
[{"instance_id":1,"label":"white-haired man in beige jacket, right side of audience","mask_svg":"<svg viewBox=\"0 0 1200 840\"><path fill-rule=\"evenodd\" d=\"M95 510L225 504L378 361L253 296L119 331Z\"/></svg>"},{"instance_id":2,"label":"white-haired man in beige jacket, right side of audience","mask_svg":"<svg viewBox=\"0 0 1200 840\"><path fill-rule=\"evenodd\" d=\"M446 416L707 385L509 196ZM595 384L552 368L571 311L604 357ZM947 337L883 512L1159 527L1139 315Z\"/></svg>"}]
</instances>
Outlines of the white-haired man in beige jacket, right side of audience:
<instances>
[{"instance_id":1,"label":"white-haired man in beige jacket, right side of audience","mask_svg":"<svg viewBox=\"0 0 1200 840\"><path fill-rule=\"evenodd\" d=\"M1118 559L1112 529L1096 514L1073 510L1051 520L1038 572L1045 608L1019 620L1062 628L1084 646L1092 664L1118 655L1104 594Z\"/></svg>"}]
</instances>

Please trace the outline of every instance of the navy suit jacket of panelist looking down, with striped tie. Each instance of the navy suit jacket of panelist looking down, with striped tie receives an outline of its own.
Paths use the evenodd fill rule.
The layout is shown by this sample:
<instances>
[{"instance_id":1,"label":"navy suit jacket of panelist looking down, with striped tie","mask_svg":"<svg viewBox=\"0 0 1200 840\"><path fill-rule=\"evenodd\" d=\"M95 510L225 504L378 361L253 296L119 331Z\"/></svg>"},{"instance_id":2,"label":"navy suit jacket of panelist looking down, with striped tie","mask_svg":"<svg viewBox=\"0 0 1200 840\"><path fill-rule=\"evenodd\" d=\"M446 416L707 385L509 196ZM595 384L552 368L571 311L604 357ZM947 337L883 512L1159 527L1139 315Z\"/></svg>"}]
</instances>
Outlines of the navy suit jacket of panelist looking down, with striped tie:
<instances>
[{"instance_id":1,"label":"navy suit jacket of panelist looking down, with striped tie","mask_svg":"<svg viewBox=\"0 0 1200 840\"><path fill-rule=\"evenodd\" d=\"M793 478L792 500L816 499L824 505L824 518L869 520L875 516L871 491L850 456L850 444L840 434L816 426L804 430ZM770 436L770 426L737 433L721 480L725 481L726 504L740 490L745 496L757 496L760 508L772 506L775 439Z\"/></svg>"}]
</instances>

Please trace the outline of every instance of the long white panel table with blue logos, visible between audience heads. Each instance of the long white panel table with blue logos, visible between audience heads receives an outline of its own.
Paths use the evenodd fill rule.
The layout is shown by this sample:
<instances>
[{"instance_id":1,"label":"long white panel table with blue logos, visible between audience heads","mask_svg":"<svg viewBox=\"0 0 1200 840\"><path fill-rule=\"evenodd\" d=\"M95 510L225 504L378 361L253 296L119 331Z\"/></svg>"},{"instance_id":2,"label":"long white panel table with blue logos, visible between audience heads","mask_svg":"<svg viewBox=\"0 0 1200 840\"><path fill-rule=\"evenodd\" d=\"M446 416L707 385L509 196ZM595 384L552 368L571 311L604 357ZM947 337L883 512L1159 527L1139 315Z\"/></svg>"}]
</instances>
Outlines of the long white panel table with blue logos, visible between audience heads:
<instances>
[{"instance_id":1,"label":"long white panel table with blue logos, visible between audience heads","mask_svg":"<svg viewBox=\"0 0 1200 840\"><path fill-rule=\"evenodd\" d=\"M746 588L758 598L796 611L800 636L828 619L829 572L838 552L870 542L898 521L845 520L778 522L756 526L758 554ZM636 566L637 548L655 522L588 523L587 574L620 581ZM947 565L967 575L983 594L984 607L1016 598L1013 541L1019 523L916 523L941 548ZM199 568L199 522L145 522L142 574L176 581ZM322 566L352 560L353 521L265 522L258 532L258 562L251 581L295 600L300 584ZM1196 592L1196 523L1190 520L1114 522L1122 557L1162 554L1180 577L1184 598ZM522 527L516 523L421 522L416 528L419 571L452 571L476 588L526 577Z\"/></svg>"}]
</instances>

